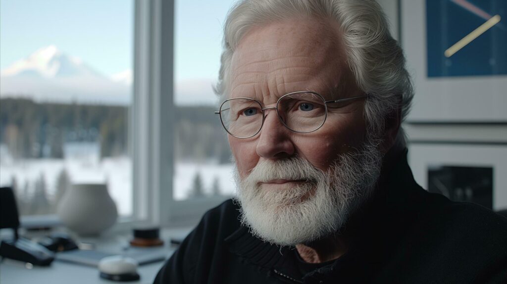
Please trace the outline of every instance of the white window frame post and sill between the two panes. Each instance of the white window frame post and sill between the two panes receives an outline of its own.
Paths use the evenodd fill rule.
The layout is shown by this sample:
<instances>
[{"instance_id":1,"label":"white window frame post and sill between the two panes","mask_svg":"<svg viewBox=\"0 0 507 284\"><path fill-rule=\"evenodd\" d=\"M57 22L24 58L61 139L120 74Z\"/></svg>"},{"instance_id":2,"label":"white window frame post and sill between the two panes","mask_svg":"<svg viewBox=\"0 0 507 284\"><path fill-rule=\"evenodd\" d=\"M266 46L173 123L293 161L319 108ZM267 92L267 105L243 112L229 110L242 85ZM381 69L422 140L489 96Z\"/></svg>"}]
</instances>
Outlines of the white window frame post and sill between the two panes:
<instances>
[{"instance_id":1,"label":"white window frame post and sill between the two panes","mask_svg":"<svg viewBox=\"0 0 507 284\"><path fill-rule=\"evenodd\" d=\"M133 215L161 226L192 225L226 197L173 198L174 1L136 0L134 10Z\"/></svg>"}]
</instances>

